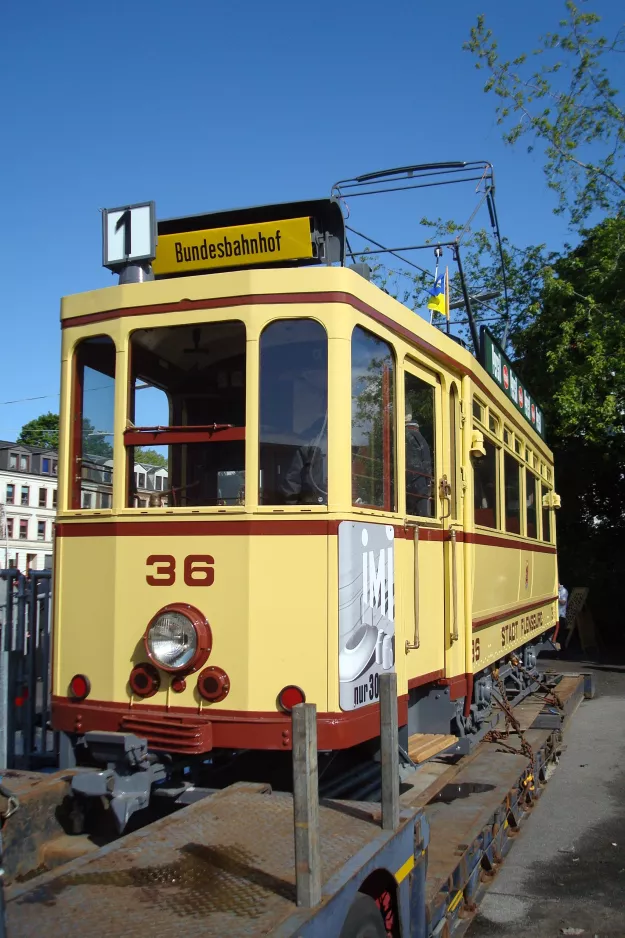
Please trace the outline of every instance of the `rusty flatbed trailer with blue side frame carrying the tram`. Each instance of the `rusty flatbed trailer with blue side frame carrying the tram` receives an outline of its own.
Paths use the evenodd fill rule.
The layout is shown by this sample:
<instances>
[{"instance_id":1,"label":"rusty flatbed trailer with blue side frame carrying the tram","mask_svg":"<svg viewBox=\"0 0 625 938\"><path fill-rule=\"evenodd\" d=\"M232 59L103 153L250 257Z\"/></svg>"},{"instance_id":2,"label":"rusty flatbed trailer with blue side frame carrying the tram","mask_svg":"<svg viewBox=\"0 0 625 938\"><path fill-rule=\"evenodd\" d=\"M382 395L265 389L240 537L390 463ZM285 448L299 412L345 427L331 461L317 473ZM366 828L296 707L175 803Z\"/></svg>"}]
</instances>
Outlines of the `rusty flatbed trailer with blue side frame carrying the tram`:
<instances>
[{"instance_id":1,"label":"rusty flatbed trailer with blue side frame carrying the tram","mask_svg":"<svg viewBox=\"0 0 625 938\"><path fill-rule=\"evenodd\" d=\"M515 708L524 752L510 751L514 736L483 742L468 756L416 768L401 793L397 760L388 758L393 693L382 694L381 804L319 804L308 710L300 716L312 733L298 736L294 718L301 785L293 795L237 783L41 872L71 854L69 838L46 840L68 774L5 775L23 809L3 832L6 938L136 938L156 928L185 938L462 935L540 797L564 724L592 696L591 681L562 677L561 711L537 694ZM365 927L372 899L382 931Z\"/></svg>"}]
</instances>

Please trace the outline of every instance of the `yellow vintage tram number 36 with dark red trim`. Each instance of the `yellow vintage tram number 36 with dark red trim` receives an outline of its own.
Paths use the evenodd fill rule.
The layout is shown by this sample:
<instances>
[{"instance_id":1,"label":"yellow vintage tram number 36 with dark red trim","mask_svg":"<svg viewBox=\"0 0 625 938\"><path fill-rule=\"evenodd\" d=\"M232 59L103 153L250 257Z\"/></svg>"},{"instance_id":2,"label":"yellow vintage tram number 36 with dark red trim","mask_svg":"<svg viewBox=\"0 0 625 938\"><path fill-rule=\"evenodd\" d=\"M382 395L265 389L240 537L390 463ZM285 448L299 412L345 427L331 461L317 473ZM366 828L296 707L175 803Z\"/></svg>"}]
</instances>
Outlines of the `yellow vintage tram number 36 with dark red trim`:
<instances>
[{"instance_id":1,"label":"yellow vintage tram number 36 with dark red trim","mask_svg":"<svg viewBox=\"0 0 625 938\"><path fill-rule=\"evenodd\" d=\"M488 334L328 262L336 202L251 212L62 302L54 728L288 750L306 699L345 749L394 669L404 733L470 737L557 627L540 410Z\"/></svg>"}]
</instances>

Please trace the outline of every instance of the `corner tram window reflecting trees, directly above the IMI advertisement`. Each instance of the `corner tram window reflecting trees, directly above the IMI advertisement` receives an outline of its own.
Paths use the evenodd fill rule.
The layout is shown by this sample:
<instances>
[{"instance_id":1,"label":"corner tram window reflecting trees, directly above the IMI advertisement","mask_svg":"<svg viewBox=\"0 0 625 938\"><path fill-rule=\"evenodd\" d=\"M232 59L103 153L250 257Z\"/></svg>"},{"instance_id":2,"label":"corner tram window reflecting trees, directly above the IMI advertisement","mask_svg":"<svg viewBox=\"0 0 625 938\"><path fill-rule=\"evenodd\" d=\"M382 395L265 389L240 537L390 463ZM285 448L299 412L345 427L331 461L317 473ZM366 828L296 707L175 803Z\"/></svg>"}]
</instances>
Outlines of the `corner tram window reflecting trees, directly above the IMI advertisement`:
<instances>
[{"instance_id":1,"label":"corner tram window reflecting trees, directly above the IMI advertisement","mask_svg":"<svg viewBox=\"0 0 625 938\"><path fill-rule=\"evenodd\" d=\"M395 363L390 346L352 333L352 502L395 510Z\"/></svg>"}]
</instances>

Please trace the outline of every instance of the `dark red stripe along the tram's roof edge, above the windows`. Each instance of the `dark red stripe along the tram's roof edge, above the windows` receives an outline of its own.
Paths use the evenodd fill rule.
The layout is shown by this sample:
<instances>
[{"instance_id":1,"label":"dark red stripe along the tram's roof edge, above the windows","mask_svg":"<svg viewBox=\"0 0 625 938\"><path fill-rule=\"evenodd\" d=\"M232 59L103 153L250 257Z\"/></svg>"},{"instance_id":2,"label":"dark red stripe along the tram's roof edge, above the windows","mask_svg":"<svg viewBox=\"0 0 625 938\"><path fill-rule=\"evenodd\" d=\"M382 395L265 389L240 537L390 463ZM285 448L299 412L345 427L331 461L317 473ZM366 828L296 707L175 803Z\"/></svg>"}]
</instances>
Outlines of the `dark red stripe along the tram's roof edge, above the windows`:
<instances>
[{"instance_id":1,"label":"dark red stripe along the tram's roof edge, above the windows","mask_svg":"<svg viewBox=\"0 0 625 938\"><path fill-rule=\"evenodd\" d=\"M394 319L391 319L389 316L385 316L384 313L378 312L378 310L374 309L372 306L369 306L368 303L365 303L358 297L353 296L353 294L346 293L342 290L331 290L320 293L251 293L247 296L209 297L203 300L179 300L176 303L157 303L152 306L133 306L126 309L110 309L103 310L100 313L87 313L84 316L73 316L70 319L63 319L61 320L61 328L68 329L72 326L86 326L94 322L106 322L111 319L122 319L128 316L148 316L159 313L178 313L200 309L230 309L237 306L289 304L301 305L309 303L344 303L347 306L351 306L353 309L357 309L365 316L369 316L371 319L375 320L375 322L385 326L391 332L394 332L396 335L406 339L412 345L416 345L417 348L427 352L428 355L430 355L433 359L441 362L448 368L451 368L457 374L470 375L472 380L475 381L483 393L486 394L486 396L491 401L494 401L498 406L500 406L492 390L484 384L482 378L471 367L463 365L456 358L453 358L446 352L441 352L440 349L436 348L435 345L427 342L421 336L417 335L415 332L412 332L412 330L406 329L405 326L401 326L398 322L395 322ZM493 379L489 378L489 380L495 384ZM528 426L530 426L521 424L518 420L516 420L515 416L508 413L507 411L506 419L509 423L514 424L514 426L523 433L526 433ZM533 445L541 453L541 455L544 456L545 459L551 462L551 455L548 450L543 449L535 441L533 442Z\"/></svg>"}]
</instances>

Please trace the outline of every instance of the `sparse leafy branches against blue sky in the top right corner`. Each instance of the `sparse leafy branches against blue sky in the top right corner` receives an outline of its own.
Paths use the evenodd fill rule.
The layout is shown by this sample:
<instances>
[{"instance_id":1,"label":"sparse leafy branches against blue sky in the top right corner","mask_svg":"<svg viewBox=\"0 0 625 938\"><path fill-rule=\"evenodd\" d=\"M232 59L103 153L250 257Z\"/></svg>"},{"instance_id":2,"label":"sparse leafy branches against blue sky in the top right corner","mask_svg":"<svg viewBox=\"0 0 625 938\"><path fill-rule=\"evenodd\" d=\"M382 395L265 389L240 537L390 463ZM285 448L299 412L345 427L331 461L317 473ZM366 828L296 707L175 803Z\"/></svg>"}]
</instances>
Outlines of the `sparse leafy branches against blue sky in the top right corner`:
<instances>
[{"instance_id":1,"label":"sparse leafy branches against blue sky in the top right corner","mask_svg":"<svg viewBox=\"0 0 625 938\"><path fill-rule=\"evenodd\" d=\"M596 13L573 0L565 10L558 32L540 37L529 55L503 59L484 15L464 48L488 73L484 91L498 99L504 140L526 138L528 152L542 146L555 211L578 226L593 210L616 215L625 205L625 113L611 77L623 68L625 28L602 36Z\"/></svg>"}]
</instances>

